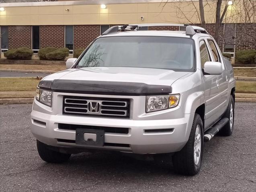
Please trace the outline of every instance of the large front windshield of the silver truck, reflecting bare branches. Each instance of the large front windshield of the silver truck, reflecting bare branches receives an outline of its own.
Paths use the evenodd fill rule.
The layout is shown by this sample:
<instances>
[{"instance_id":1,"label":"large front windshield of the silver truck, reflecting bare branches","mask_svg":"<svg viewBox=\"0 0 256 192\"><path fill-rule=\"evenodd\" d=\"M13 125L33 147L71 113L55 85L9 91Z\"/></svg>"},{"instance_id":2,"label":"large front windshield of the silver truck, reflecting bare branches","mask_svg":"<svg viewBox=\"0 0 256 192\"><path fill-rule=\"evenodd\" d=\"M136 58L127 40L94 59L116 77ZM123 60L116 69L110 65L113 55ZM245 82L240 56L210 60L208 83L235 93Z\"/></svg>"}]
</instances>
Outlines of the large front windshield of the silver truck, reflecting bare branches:
<instances>
[{"instance_id":1,"label":"large front windshield of the silver truck, reflecting bare branches","mask_svg":"<svg viewBox=\"0 0 256 192\"><path fill-rule=\"evenodd\" d=\"M194 42L189 38L162 36L98 38L75 66L83 67L142 67L192 71Z\"/></svg>"}]
</instances>

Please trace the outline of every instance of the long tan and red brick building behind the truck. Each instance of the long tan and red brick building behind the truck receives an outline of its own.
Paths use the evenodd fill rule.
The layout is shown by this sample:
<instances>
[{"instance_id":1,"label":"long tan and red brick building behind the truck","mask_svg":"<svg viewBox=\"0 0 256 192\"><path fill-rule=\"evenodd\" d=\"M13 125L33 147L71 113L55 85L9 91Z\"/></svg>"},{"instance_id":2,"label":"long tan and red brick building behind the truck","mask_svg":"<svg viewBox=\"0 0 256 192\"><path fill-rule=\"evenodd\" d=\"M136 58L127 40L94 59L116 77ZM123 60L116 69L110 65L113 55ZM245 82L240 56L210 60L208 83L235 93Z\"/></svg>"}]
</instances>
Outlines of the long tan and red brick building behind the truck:
<instances>
[{"instance_id":1,"label":"long tan and red brick building behind the truck","mask_svg":"<svg viewBox=\"0 0 256 192\"><path fill-rule=\"evenodd\" d=\"M101 2L109 4L102 5ZM116 24L188 23L186 18L178 16L177 2L169 2L164 7L161 2L162 0L80 0L2 3L1 53L18 47L31 48L35 54L44 47L67 47L72 54L75 49L86 48L92 40ZM235 2L238 4L240 0ZM186 8L184 12L193 13L193 7L186 3L188 1L182 2L183 10ZM208 3L214 6L214 2ZM228 10L227 15L231 12L232 9L230 12ZM214 36L215 24L211 21L215 15L207 6L205 17L206 30ZM196 17L190 18L190 22L200 26ZM163 26L143 27L141 30L182 30L181 28ZM226 20L220 28L219 47L233 56L237 50L255 49L255 21L241 23L237 18Z\"/></svg>"}]
</instances>

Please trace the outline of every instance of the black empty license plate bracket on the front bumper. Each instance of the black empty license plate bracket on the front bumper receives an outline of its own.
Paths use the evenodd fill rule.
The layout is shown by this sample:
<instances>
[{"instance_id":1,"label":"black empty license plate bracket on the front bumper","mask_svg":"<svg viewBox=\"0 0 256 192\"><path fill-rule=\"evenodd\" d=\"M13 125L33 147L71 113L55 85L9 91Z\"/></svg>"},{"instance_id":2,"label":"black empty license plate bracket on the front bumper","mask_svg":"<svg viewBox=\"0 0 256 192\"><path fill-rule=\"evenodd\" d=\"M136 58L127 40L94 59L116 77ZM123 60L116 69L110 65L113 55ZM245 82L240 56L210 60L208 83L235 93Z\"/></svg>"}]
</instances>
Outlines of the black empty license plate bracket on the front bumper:
<instances>
[{"instance_id":1,"label":"black empty license plate bracket on the front bumper","mask_svg":"<svg viewBox=\"0 0 256 192\"><path fill-rule=\"evenodd\" d=\"M86 136L84 136L86 134ZM96 134L96 141L90 138L90 135ZM89 137L89 138L88 138ZM88 140L85 140L88 138ZM103 146L104 145L104 130L95 129L76 129L76 144L78 145L91 145L91 146Z\"/></svg>"}]
</instances>

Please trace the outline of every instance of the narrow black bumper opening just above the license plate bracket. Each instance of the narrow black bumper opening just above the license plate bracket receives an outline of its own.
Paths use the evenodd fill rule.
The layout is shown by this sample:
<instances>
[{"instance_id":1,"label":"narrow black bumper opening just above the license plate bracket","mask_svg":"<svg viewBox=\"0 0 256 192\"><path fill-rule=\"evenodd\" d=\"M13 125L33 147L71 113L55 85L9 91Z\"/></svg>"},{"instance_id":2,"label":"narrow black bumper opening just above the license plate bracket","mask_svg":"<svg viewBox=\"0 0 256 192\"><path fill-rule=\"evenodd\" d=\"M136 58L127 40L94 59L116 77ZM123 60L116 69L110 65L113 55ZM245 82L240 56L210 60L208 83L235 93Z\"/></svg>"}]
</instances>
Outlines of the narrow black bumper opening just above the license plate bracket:
<instances>
[{"instance_id":1,"label":"narrow black bumper opening just above the license plate bracket","mask_svg":"<svg viewBox=\"0 0 256 192\"><path fill-rule=\"evenodd\" d=\"M104 130L106 133L120 133L128 134L129 128L120 128L120 127L103 127L103 126L89 126L89 125L75 125L75 124L58 124L59 129L65 130L76 130L76 129L95 129L95 130Z\"/></svg>"}]
</instances>

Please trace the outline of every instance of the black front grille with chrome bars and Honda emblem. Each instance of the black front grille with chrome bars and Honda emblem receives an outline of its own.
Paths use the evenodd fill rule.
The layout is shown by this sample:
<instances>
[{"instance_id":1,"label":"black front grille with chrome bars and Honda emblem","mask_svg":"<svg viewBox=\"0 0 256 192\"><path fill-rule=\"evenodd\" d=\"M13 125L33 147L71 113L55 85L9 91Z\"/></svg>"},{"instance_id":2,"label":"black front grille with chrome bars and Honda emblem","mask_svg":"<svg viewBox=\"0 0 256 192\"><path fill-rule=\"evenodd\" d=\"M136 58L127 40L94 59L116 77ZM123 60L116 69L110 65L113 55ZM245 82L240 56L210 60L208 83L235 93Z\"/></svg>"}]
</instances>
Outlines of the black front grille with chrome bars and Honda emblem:
<instances>
[{"instance_id":1,"label":"black front grille with chrome bars and Honda emblem","mask_svg":"<svg viewBox=\"0 0 256 192\"><path fill-rule=\"evenodd\" d=\"M64 96L63 114L104 115L129 118L130 100Z\"/></svg>"}]
</instances>

